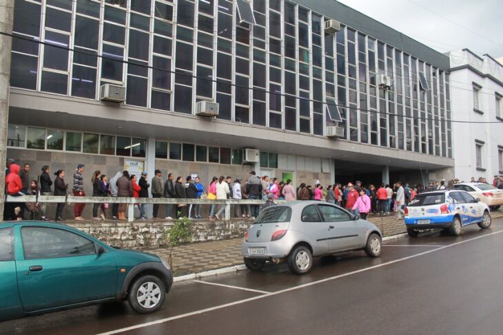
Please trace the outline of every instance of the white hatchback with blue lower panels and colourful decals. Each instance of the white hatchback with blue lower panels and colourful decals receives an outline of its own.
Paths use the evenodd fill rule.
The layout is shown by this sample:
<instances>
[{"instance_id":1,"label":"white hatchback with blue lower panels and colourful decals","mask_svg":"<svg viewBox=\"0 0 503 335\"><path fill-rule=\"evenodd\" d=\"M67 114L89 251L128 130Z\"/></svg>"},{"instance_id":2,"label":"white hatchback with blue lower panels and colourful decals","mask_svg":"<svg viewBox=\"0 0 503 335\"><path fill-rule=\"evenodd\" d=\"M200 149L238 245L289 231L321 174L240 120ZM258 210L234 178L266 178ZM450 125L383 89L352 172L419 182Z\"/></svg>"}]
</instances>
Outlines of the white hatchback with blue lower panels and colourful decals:
<instances>
[{"instance_id":1,"label":"white hatchback with blue lower panels and colourful decals","mask_svg":"<svg viewBox=\"0 0 503 335\"><path fill-rule=\"evenodd\" d=\"M443 228L452 235L460 235L461 227L478 224L491 226L489 206L465 191L433 191L420 193L405 209L405 225L409 236L418 236L419 230Z\"/></svg>"}]
</instances>

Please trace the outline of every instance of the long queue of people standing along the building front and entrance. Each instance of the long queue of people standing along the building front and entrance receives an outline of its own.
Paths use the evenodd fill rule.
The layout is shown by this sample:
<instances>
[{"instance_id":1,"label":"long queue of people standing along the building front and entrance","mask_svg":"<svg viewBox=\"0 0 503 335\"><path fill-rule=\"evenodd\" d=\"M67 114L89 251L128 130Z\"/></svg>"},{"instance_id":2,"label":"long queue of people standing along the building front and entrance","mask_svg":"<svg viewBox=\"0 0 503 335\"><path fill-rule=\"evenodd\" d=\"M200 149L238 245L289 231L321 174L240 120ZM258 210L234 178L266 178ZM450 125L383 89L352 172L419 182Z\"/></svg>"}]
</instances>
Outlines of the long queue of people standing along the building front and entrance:
<instances>
[{"instance_id":1,"label":"long queue of people standing along the building front and entrance","mask_svg":"<svg viewBox=\"0 0 503 335\"><path fill-rule=\"evenodd\" d=\"M15 160L8 160L6 164L6 194L14 197L20 195L59 195L68 194L69 184L65 183L65 171L58 170L54 173L54 180L50 177L50 167L42 166L41 174L37 179L30 178L30 164L21 166ZM72 194L75 197L84 197L84 164L78 164L72 174ZM232 177L213 177L208 186L201 182L198 176L174 177L173 173L167 174L167 179L163 180L163 173L155 171L154 177L148 181L146 172L141 175L130 175L128 171L117 172L112 178L101 171L94 171L90 180L92 184L93 197L134 197L147 198L152 194L153 198L167 199L262 199L265 204L262 206L274 206L276 200L317 200L337 204L353 213L360 215L363 219L369 213L380 213L390 215L391 212L398 213L398 219L404 215L404 207L415 195L427 191L451 189L454 184L460 182L458 179L430 182L428 186L417 184L410 187L409 184L396 182L393 185L380 184L376 187L373 184L367 187L356 181L354 184L333 184L324 188L320 184L314 187L301 183L294 188L291 180L283 182L278 178L264 175L259 177L255 171L249 172L249 177L243 182L240 178L232 180ZM471 178L475 182L475 178ZM486 182L485 178L479 178L478 182ZM503 188L503 175L495 175L493 186ZM48 221L48 210L46 202L28 203L6 203L3 219L41 219ZM136 204L140 213L139 219L147 219L147 204ZM75 203L74 219L83 220L82 213L85 208L84 203ZM92 206L92 219L95 221L107 219L107 212L112 210L112 219L125 220L128 204L109 204L107 202L94 203ZM174 217L188 217L189 219L202 219L203 206L209 206L209 219L220 219L223 217L225 205L212 204L154 204L152 217L160 218L161 206L165 206L165 219L171 220ZM260 205L236 204L232 205L234 217L254 218L260 211ZM110 208L111 207L111 208ZM65 202L58 203L54 213L56 221L63 221L63 209Z\"/></svg>"}]
</instances>

